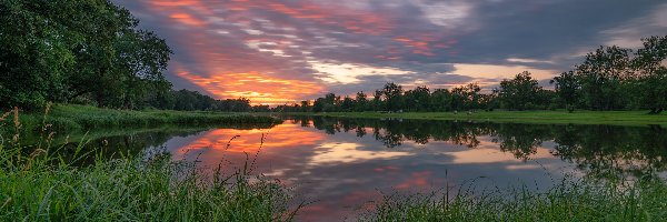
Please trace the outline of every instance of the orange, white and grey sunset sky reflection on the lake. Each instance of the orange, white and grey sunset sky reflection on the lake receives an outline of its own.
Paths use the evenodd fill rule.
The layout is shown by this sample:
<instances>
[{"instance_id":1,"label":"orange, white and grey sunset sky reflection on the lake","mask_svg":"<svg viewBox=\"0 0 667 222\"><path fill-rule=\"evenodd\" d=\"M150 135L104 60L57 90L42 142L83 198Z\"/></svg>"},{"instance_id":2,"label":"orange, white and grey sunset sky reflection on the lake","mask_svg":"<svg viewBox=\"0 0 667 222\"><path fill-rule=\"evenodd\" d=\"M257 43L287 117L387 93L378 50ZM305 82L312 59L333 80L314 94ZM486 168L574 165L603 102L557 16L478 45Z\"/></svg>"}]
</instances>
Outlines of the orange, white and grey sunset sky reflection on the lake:
<instances>
[{"instance_id":1,"label":"orange, white and grey sunset sky reflection on the lake","mask_svg":"<svg viewBox=\"0 0 667 222\"><path fill-rule=\"evenodd\" d=\"M379 200L381 192L430 192L471 180L481 181L480 188L548 186L575 169L545 145L536 147L526 160L501 151L491 135L475 137L472 142L469 134L401 140L400 145L388 147L381 140L397 138L388 133L372 127L316 129L312 121L288 120L270 129L215 129L176 137L165 147L175 160L198 160L206 167L256 163L253 173L278 179L315 201L301 209L299 220L305 221L340 221L368 210L367 203Z\"/></svg>"}]
</instances>

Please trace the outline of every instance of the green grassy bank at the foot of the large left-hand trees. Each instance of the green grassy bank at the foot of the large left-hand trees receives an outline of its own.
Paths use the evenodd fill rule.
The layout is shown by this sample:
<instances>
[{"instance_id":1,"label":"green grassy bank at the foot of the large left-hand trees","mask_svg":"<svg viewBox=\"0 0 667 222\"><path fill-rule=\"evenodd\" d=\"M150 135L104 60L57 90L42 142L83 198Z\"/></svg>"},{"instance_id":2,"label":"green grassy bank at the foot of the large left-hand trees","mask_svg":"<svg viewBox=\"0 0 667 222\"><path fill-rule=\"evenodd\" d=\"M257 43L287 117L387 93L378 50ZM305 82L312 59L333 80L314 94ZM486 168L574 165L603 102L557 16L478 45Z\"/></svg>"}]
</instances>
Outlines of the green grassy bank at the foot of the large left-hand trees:
<instances>
[{"instance_id":1,"label":"green grassy bank at the foot of the large left-hand trees","mask_svg":"<svg viewBox=\"0 0 667 222\"><path fill-rule=\"evenodd\" d=\"M46 118L46 121L44 121ZM44 122L56 130L89 130L94 128L146 128L161 124L237 124L277 123L275 118L248 113L220 113L169 110L111 110L87 105L54 104L40 113L20 113L24 130L39 130ZM9 127L12 123L7 123Z\"/></svg>"}]
</instances>

